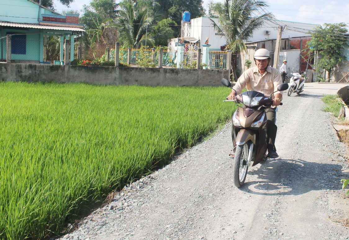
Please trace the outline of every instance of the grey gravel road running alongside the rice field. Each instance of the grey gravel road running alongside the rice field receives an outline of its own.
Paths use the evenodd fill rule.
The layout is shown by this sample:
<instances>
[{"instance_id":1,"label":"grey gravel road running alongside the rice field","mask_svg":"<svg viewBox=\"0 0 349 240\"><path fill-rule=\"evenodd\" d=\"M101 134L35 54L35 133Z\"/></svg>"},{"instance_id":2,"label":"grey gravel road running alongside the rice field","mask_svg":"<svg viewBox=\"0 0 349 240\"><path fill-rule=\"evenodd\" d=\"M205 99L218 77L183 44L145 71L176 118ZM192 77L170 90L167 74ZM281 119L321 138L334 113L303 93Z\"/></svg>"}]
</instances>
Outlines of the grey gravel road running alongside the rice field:
<instances>
[{"instance_id":1,"label":"grey gravel road running alongside the rice field","mask_svg":"<svg viewBox=\"0 0 349 240\"><path fill-rule=\"evenodd\" d=\"M331 221L348 217L349 199L340 190L340 179L349 177L346 149L321 111L321 97L284 94L280 158L248 169L242 188L233 184L227 124L116 193L61 239L349 239L349 229Z\"/></svg>"}]
</instances>

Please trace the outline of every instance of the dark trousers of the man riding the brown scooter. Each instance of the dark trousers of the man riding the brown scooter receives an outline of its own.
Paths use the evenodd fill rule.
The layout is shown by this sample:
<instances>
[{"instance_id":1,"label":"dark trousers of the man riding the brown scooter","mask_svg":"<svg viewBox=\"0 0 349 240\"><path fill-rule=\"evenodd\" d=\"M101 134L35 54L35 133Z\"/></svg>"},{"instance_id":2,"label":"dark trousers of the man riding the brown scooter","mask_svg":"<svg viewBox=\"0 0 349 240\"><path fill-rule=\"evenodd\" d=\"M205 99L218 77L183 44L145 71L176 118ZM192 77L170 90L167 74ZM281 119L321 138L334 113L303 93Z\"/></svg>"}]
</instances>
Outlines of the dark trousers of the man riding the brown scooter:
<instances>
[{"instance_id":1,"label":"dark trousers of the man riding the brown scooter","mask_svg":"<svg viewBox=\"0 0 349 240\"><path fill-rule=\"evenodd\" d=\"M276 152L275 139L277 126L275 125L276 111L275 108L266 108L265 114L267 116L267 148L268 152ZM236 147L235 136L233 128L231 127L231 138L233 140L233 146Z\"/></svg>"}]
</instances>

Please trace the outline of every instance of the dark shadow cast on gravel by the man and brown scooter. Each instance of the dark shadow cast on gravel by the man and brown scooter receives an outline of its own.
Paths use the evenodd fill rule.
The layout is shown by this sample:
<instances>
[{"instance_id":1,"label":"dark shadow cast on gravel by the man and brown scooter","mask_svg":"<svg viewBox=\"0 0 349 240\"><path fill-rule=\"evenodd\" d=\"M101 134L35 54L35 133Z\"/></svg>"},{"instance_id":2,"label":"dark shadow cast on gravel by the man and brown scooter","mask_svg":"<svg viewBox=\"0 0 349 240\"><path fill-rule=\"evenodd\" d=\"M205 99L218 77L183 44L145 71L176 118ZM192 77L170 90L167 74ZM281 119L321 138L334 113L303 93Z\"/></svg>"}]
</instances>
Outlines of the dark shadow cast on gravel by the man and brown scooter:
<instances>
[{"instance_id":1,"label":"dark shadow cast on gravel by the man and brown scooter","mask_svg":"<svg viewBox=\"0 0 349 240\"><path fill-rule=\"evenodd\" d=\"M246 182L240 190L258 195L299 195L313 190L340 189L342 169L339 164L322 164L303 160L268 160L257 169L248 171ZM257 175L257 181L248 181ZM338 182L338 186L333 187Z\"/></svg>"}]
</instances>

